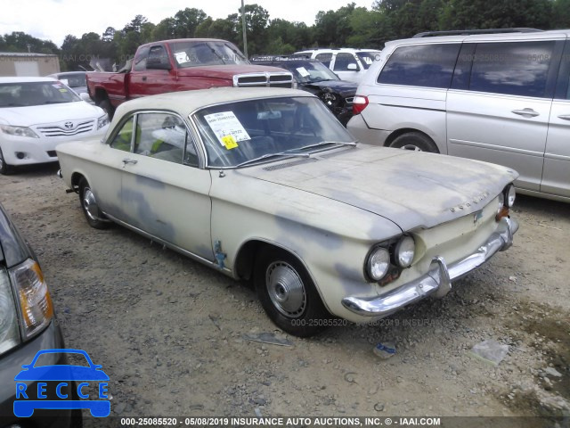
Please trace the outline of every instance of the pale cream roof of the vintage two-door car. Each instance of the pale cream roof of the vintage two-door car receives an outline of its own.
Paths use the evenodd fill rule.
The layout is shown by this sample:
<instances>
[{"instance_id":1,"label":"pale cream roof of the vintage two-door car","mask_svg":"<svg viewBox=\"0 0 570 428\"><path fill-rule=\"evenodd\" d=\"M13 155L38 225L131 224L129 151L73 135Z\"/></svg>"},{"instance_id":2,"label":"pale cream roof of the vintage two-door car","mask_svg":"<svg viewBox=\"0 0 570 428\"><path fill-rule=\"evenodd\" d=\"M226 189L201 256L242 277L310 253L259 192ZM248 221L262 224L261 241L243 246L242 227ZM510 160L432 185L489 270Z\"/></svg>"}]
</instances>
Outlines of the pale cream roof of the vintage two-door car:
<instances>
[{"instance_id":1,"label":"pale cream roof of the vintage two-door car","mask_svg":"<svg viewBox=\"0 0 570 428\"><path fill-rule=\"evenodd\" d=\"M232 103L256 98L281 96L314 96L305 91L277 87L213 87L195 91L171 92L144 96L118 106L113 122L128 111L171 110L188 117L193 111L209 105ZM112 125L111 125L112 127Z\"/></svg>"}]
</instances>

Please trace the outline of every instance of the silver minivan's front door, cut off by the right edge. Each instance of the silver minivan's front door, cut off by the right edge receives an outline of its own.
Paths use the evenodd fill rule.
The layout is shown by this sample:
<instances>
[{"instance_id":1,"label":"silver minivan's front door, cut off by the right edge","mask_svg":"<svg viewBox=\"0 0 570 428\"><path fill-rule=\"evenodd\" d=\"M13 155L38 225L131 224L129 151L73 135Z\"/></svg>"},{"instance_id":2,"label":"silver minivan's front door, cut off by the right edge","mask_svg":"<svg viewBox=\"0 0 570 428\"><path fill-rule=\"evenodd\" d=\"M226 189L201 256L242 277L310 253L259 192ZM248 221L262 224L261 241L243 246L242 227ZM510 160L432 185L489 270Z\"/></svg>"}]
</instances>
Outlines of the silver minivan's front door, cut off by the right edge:
<instances>
[{"instance_id":1,"label":"silver minivan's front door, cut off by the right edge","mask_svg":"<svg viewBox=\"0 0 570 428\"><path fill-rule=\"evenodd\" d=\"M570 197L570 41L562 55L550 111L541 192Z\"/></svg>"}]
</instances>

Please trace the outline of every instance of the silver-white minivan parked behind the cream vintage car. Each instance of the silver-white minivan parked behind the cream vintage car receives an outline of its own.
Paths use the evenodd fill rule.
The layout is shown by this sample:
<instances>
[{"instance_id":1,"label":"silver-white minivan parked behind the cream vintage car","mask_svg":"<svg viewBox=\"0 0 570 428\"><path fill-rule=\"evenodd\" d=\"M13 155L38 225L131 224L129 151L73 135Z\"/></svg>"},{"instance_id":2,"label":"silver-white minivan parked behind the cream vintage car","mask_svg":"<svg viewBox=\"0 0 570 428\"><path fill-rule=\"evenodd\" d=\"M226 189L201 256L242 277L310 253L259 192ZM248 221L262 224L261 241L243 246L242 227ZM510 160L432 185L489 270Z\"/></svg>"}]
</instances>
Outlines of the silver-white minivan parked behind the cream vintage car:
<instances>
[{"instance_id":1,"label":"silver-white minivan parked behind the cream vintage car","mask_svg":"<svg viewBox=\"0 0 570 428\"><path fill-rule=\"evenodd\" d=\"M521 193L570 202L570 30L498 31L387 43L347 128L362 143L499 163Z\"/></svg>"}]
</instances>

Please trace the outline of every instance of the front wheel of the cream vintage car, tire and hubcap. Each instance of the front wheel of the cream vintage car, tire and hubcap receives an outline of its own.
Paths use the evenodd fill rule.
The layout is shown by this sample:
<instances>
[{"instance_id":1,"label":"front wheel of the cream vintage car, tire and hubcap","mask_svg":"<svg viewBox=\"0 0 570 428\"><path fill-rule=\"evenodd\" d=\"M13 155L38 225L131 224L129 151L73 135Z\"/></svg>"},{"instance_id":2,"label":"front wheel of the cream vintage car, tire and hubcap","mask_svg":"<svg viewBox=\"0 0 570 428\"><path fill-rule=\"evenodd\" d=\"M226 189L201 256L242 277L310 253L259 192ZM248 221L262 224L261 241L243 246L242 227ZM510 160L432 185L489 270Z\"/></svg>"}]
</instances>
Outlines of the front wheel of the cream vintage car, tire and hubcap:
<instances>
[{"instance_id":1,"label":"front wheel of the cream vintage car, tire and hubcap","mask_svg":"<svg viewBox=\"0 0 570 428\"><path fill-rule=\"evenodd\" d=\"M268 317L281 330L298 337L321 332L328 311L311 277L286 251L262 248L254 268L256 292Z\"/></svg>"}]
</instances>

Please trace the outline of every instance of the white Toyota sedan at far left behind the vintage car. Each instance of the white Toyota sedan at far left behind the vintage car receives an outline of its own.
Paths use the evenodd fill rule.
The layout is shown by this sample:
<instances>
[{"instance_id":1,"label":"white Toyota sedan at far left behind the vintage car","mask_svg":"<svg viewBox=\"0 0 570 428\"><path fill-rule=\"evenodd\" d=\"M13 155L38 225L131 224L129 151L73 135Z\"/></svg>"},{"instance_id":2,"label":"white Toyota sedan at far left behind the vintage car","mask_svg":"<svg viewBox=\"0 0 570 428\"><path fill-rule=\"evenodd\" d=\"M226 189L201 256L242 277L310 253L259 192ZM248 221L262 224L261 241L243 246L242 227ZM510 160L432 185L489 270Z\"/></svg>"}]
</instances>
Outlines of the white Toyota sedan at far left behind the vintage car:
<instances>
[{"instance_id":1,"label":"white Toyota sedan at far left behind the vintage car","mask_svg":"<svg viewBox=\"0 0 570 428\"><path fill-rule=\"evenodd\" d=\"M0 174L57 161L55 146L98 136L107 114L53 78L0 78Z\"/></svg>"}]
</instances>

